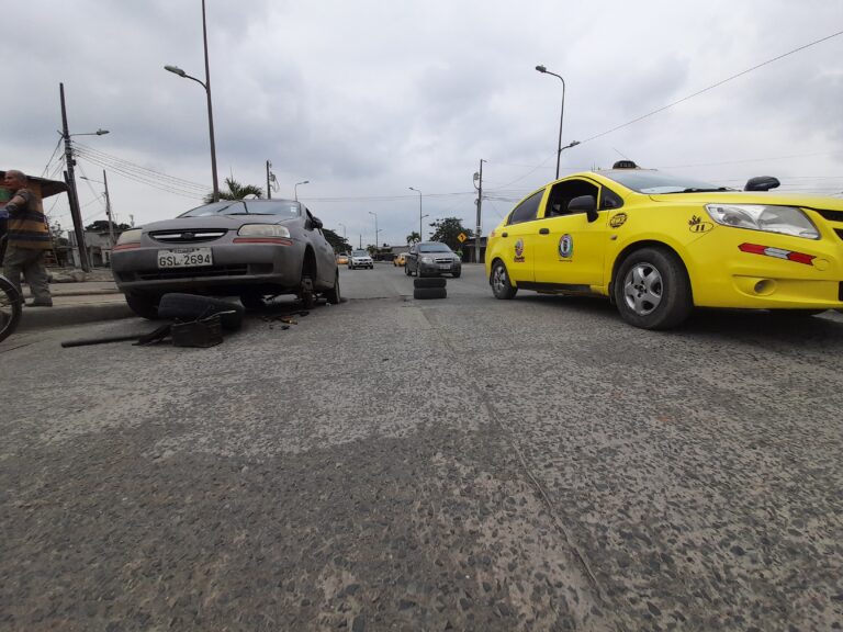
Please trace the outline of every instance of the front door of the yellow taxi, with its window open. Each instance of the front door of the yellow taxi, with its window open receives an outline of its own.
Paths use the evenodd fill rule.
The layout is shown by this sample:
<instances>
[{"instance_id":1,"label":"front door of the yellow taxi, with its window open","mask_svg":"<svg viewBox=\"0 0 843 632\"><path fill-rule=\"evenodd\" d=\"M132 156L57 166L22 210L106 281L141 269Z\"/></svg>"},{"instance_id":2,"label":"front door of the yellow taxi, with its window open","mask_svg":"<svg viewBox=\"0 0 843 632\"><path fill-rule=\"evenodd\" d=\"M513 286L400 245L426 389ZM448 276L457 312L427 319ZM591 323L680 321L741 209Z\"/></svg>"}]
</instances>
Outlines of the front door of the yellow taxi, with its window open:
<instances>
[{"instance_id":1,"label":"front door of the yellow taxi, with its window open","mask_svg":"<svg viewBox=\"0 0 843 632\"><path fill-rule=\"evenodd\" d=\"M572 210L572 200L591 196L594 214ZM584 178L554 184L536 230L535 280L537 284L563 285L588 291L604 284L604 259L608 246L607 210L598 210L600 187Z\"/></svg>"}]
</instances>

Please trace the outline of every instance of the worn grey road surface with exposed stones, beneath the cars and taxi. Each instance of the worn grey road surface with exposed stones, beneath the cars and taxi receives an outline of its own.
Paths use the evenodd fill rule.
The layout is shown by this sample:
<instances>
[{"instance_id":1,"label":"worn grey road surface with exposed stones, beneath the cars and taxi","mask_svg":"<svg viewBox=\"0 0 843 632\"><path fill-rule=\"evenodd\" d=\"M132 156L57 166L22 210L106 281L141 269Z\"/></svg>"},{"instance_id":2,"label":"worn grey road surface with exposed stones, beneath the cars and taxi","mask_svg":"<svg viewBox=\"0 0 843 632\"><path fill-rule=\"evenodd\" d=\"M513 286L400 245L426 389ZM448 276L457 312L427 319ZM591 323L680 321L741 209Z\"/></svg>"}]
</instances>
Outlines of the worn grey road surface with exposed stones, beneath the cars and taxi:
<instances>
[{"instance_id":1,"label":"worn grey road surface with exposed stones, beneath the cars and taxi","mask_svg":"<svg viewBox=\"0 0 843 632\"><path fill-rule=\"evenodd\" d=\"M840 314L341 283L210 349L0 346L0 629L840 629Z\"/></svg>"}]
</instances>

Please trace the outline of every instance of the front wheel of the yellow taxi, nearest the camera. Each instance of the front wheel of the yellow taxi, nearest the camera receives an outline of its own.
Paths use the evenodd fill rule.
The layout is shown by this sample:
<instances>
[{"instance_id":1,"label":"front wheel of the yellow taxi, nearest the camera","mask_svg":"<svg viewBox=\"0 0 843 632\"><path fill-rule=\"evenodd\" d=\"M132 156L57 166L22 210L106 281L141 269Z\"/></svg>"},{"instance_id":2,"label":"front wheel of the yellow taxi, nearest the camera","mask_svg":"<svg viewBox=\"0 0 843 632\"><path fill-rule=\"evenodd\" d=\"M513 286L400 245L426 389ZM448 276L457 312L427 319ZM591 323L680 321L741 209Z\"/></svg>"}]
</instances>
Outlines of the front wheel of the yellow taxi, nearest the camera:
<instances>
[{"instance_id":1,"label":"front wheel of the yellow taxi, nearest the camera","mask_svg":"<svg viewBox=\"0 0 843 632\"><path fill-rule=\"evenodd\" d=\"M642 329L676 327L693 308L685 267L663 248L642 248L627 257L612 290L623 320Z\"/></svg>"}]
</instances>

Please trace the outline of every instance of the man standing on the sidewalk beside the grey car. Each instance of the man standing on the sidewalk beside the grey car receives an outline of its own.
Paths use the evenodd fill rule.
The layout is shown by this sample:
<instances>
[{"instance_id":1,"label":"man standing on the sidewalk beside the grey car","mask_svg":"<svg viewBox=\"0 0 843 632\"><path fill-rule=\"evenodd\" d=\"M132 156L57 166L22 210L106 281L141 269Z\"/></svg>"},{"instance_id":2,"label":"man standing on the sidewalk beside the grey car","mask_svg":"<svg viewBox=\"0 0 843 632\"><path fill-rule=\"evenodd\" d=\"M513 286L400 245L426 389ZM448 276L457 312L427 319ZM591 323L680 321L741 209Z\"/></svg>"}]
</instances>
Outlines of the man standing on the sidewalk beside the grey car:
<instances>
[{"instance_id":1,"label":"man standing on the sidewalk beside the grey car","mask_svg":"<svg viewBox=\"0 0 843 632\"><path fill-rule=\"evenodd\" d=\"M53 307L47 270L44 267L44 256L53 246L41 200L26 189L26 176L16 169L5 172L3 187L12 192L12 199L5 205L9 212L9 244L3 261L5 276L18 287L18 292L21 292L23 272L34 297L26 305Z\"/></svg>"}]
</instances>

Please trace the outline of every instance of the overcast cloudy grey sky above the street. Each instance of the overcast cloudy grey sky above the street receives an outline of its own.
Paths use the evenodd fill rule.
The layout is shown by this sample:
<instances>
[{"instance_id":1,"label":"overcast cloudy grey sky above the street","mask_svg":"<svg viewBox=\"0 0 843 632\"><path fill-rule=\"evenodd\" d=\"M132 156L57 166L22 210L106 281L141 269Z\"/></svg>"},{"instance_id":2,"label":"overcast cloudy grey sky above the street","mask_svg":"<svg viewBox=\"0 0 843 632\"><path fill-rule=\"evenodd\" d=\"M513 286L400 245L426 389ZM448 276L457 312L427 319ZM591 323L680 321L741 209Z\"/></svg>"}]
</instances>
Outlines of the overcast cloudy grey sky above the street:
<instances>
[{"instance_id":1,"label":"overcast cloudy grey sky above the street","mask_svg":"<svg viewBox=\"0 0 843 632\"><path fill-rule=\"evenodd\" d=\"M562 154L562 174L627 157L731 187L769 174L783 190L843 192L841 0L206 10L221 182L266 188L270 160L273 198L308 180L299 198L355 246L374 242L370 213L381 242L404 244L419 200L426 233L441 217L473 227L481 159L484 233L552 180L562 82L539 64L565 80L562 144L582 142ZM211 190L205 93L164 66L204 80L201 0L7 2L3 23L0 169L61 179L64 82L71 134L110 131L74 138L77 177L105 169L119 222L200 204ZM86 223L104 218L102 185L77 187ZM71 227L64 195L45 207Z\"/></svg>"}]
</instances>

